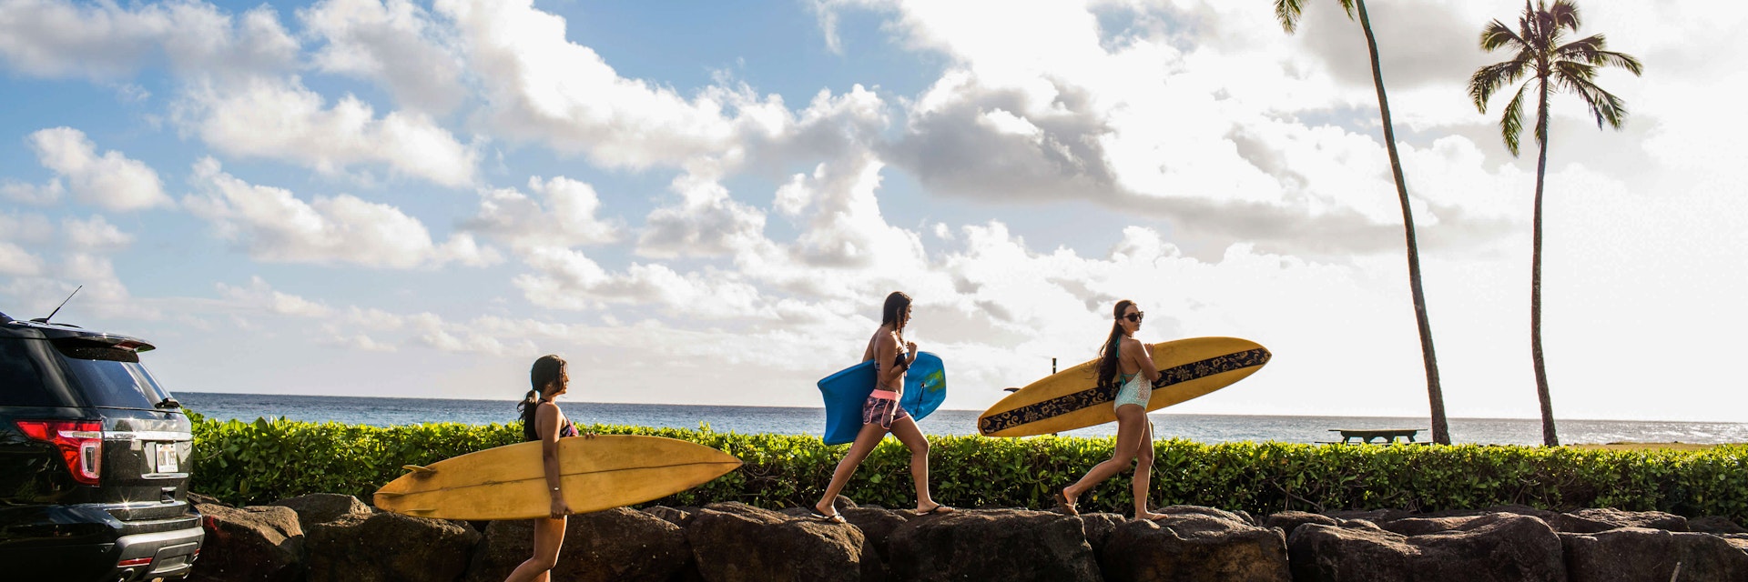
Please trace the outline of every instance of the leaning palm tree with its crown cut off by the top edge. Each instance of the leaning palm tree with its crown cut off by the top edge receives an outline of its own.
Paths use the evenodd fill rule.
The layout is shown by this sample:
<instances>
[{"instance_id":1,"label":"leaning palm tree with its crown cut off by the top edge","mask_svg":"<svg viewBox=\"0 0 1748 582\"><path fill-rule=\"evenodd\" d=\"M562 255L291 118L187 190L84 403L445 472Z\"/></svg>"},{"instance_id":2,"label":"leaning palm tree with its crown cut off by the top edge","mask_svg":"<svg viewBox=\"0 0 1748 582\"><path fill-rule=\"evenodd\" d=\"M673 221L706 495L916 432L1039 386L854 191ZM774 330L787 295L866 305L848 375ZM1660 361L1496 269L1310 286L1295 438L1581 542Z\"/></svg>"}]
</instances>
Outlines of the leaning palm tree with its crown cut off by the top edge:
<instances>
[{"instance_id":1,"label":"leaning palm tree with its crown cut off by the top edge","mask_svg":"<svg viewBox=\"0 0 1748 582\"><path fill-rule=\"evenodd\" d=\"M1384 96L1384 75L1377 68L1377 38L1372 37L1372 19L1365 16L1365 0L1337 0L1341 9L1360 12L1360 30L1365 31L1365 47L1372 52L1372 86L1377 87L1377 112L1384 119L1384 150L1390 152L1390 175L1397 180L1397 197L1402 201L1402 231L1409 243L1409 290L1414 294L1414 320L1419 323L1421 358L1426 364L1426 400L1432 402L1432 440L1451 444L1451 428L1444 421L1444 390L1439 388L1439 358L1432 351L1432 323L1426 323L1426 294L1419 285L1419 245L1414 243L1414 211L1409 208L1409 185L1402 180L1402 157L1397 156L1397 131L1390 124L1390 100ZM1274 0L1274 19L1287 33L1299 28L1299 16L1304 0Z\"/></svg>"}]
</instances>

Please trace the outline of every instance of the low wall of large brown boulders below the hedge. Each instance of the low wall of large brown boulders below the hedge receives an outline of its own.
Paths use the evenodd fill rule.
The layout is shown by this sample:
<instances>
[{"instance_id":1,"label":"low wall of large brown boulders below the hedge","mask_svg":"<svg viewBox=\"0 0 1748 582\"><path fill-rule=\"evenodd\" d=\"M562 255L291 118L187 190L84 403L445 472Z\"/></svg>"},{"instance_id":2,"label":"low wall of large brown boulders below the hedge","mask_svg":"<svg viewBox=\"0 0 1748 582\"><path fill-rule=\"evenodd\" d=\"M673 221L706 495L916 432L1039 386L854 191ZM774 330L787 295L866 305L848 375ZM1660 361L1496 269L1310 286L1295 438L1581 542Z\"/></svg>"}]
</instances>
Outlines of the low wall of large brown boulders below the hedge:
<instances>
[{"instance_id":1,"label":"low wall of large brown boulders below the hedge","mask_svg":"<svg viewBox=\"0 0 1748 582\"><path fill-rule=\"evenodd\" d=\"M528 521L376 512L344 495L198 500L191 580L502 580ZM572 516L554 580L1748 580L1748 530L1720 517L1530 507L1407 514L1175 505L1157 521L1024 509L844 507L846 524L743 503ZM1692 530L1692 531L1689 531Z\"/></svg>"}]
</instances>

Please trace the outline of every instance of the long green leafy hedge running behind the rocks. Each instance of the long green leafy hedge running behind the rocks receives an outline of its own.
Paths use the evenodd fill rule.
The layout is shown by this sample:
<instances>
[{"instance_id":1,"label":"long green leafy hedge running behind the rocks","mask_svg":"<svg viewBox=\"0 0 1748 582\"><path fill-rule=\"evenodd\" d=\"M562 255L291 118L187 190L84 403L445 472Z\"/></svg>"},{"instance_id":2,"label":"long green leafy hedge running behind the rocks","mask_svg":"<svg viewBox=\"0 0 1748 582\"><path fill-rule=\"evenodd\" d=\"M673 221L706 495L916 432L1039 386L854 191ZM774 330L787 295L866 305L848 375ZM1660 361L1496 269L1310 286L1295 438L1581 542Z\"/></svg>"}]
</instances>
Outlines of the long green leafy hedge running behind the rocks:
<instances>
[{"instance_id":1,"label":"long green leafy hedge running behind the rocks","mask_svg":"<svg viewBox=\"0 0 1748 582\"><path fill-rule=\"evenodd\" d=\"M848 446L804 435L741 435L645 426L582 426L659 435L722 449L745 465L652 505L745 502L781 509L818 500ZM304 493L371 493L449 456L521 440L519 425L357 426L287 419L194 423L192 489L231 503ZM1748 523L1748 446L1708 451L1580 451L1521 446L1311 446L1283 442L1154 444L1152 502L1278 510L1479 509L1523 503L1568 510L1615 507ZM1110 458L1112 439L930 437L935 500L956 507L1051 507L1051 493ZM909 451L886 439L844 495L858 503L916 503ZM1127 474L1082 496L1084 509L1126 512Z\"/></svg>"}]
</instances>

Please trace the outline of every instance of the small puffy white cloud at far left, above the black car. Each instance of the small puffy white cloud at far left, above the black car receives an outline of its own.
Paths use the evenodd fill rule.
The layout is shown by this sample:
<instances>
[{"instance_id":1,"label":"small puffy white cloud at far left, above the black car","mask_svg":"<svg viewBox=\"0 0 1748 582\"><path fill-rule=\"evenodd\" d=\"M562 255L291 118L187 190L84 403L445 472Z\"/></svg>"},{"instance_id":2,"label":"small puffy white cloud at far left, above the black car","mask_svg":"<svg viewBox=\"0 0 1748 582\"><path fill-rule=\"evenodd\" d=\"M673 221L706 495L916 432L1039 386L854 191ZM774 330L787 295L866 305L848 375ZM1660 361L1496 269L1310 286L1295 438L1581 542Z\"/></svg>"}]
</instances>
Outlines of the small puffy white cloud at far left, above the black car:
<instances>
[{"instance_id":1,"label":"small puffy white cloud at far left, above the black car","mask_svg":"<svg viewBox=\"0 0 1748 582\"><path fill-rule=\"evenodd\" d=\"M84 131L51 128L30 135L44 168L68 182L73 197L107 210L143 210L173 204L164 194L157 171L117 150L96 154L96 143ZM54 191L59 184L51 184ZM38 191L40 194L42 191Z\"/></svg>"}]
</instances>

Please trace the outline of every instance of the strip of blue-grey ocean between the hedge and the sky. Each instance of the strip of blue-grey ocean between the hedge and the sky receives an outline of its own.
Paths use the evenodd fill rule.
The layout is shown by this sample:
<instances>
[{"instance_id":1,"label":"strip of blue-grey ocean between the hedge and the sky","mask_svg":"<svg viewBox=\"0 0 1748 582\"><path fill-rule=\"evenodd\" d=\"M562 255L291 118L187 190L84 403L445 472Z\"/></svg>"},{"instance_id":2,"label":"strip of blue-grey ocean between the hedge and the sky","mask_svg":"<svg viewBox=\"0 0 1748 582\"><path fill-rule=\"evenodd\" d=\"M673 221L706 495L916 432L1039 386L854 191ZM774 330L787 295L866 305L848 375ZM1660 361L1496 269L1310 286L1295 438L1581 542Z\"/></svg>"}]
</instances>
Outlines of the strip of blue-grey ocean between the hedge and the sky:
<instances>
[{"instance_id":1,"label":"strip of blue-grey ocean between the hedge and the sky","mask_svg":"<svg viewBox=\"0 0 1748 582\"><path fill-rule=\"evenodd\" d=\"M420 425L420 423L514 423L514 400L449 398L371 398L371 397L294 397L255 393L178 391L182 405L215 419L253 421L287 418L295 421L337 421L346 425ZM678 404L601 404L566 402L559 407L579 425L638 425L699 428L715 432L820 435L825 409L760 405L678 405ZM981 411L935 411L918 425L930 435L977 433ZM1386 416L1241 416L1241 414L1150 414L1155 439L1197 442L1318 442L1339 440L1332 428L1428 428L1425 418ZM1451 418L1451 442L1542 444L1540 419ZM1748 442L1745 423L1610 421L1556 419L1564 444L1601 442ZM1065 432L1075 437L1110 437L1117 423ZM1432 432L1419 433L1430 440Z\"/></svg>"}]
</instances>

